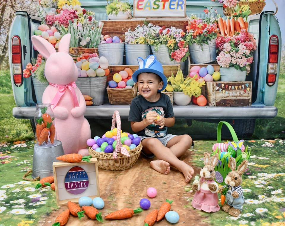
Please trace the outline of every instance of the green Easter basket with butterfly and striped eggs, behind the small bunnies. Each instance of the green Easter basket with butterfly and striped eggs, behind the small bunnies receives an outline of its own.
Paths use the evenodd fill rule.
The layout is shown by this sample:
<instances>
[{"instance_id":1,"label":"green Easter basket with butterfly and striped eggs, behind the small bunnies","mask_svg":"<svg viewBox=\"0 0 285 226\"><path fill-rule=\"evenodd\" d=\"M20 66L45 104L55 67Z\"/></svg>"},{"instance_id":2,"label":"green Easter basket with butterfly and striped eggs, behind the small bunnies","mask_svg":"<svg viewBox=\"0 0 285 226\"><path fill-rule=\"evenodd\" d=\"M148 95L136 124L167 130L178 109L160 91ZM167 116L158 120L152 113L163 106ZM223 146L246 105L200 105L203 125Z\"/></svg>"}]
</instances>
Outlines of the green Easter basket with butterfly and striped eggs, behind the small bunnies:
<instances>
[{"instance_id":1,"label":"green Easter basket with butterfly and striped eggs, behind the small bunnies","mask_svg":"<svg viewBox=\"0 0 285 226\"><path fill-rule=\"evenodd\" d=\"M222 126L226 125L229 129L233 141L221 143ZM244 151L243 151L244 150ZM228 122L219 122L217 128L217 143L213 145L213 155L219 154L219 162L215 167L215 181L220 185L226 185L224 180L227 174L232 171L229 168L229 158L235 158L236 165L239 166L243 160L249 160L251 151L248 151L248 146L244 147L243 140L238 140L235 130Z\"/></svg>"}]
</instances>

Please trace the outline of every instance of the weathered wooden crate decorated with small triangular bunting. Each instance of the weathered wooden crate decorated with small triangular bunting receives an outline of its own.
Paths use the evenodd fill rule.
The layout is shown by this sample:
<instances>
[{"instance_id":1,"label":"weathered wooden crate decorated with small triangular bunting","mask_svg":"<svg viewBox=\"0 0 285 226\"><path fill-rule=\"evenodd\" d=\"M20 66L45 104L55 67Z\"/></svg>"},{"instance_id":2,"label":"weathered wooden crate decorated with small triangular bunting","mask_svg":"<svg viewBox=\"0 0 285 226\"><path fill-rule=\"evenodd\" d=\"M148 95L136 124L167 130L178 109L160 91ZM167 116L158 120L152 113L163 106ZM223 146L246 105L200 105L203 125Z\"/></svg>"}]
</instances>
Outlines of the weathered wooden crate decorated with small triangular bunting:
<instances>
[{"instance_id":1,"label":"weathered wooden crate decorated with small triangular bunting","mask_svg":"<svg viewBox=\"0 0 285 226\"><path fill-rule=\"evenodd\" d=\"M251 82L206 82L209 106L251 106Z\"/></svg>"}]
</instances>

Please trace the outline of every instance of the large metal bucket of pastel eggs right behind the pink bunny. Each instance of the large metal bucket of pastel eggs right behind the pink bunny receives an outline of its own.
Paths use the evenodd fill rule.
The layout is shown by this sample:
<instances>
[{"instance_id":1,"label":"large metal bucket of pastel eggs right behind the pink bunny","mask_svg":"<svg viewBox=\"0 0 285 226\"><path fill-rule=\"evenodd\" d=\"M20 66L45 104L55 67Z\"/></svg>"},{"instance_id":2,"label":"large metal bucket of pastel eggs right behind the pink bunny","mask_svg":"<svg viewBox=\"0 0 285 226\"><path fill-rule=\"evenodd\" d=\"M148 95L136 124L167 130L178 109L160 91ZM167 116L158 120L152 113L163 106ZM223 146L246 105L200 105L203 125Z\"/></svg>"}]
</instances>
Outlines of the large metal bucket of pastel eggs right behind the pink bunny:
<instances>
[{"instance_id":1,"label":"large metal bucket of pastel eggs right behind the pink bunny","mask_svg":"<svg viewBox=\"0 0 285 226\"><path fill-rule=\"evenodd\" d=\"M107 76L102 77L78 77L76 85L84 95L93 97L93 105L104 104Z\"/></svg>"}]
</instances>

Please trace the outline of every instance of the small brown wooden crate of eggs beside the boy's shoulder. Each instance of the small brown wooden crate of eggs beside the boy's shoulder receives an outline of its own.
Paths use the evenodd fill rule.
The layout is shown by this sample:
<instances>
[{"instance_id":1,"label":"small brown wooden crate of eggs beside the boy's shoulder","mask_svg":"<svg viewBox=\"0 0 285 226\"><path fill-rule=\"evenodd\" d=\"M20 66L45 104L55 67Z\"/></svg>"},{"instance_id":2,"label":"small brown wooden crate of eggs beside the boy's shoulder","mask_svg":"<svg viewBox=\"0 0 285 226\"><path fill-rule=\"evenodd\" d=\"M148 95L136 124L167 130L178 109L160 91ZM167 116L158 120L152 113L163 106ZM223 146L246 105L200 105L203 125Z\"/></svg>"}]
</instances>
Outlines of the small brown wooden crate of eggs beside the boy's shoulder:
<instances>
[{"instance_id":1,"label":"small brown wooden crate of eggs beside the boy's shoulder","mask_svg":"<svg viewBox=\"0 0 285 226\"><path fill-rule=\"evenodd\" d=\"M134 84L132 88L110 88L107 87L107 94L110 104L113 105L130 105L132 99L137 96L137 85Z\"/></svg>"}]
</instances>

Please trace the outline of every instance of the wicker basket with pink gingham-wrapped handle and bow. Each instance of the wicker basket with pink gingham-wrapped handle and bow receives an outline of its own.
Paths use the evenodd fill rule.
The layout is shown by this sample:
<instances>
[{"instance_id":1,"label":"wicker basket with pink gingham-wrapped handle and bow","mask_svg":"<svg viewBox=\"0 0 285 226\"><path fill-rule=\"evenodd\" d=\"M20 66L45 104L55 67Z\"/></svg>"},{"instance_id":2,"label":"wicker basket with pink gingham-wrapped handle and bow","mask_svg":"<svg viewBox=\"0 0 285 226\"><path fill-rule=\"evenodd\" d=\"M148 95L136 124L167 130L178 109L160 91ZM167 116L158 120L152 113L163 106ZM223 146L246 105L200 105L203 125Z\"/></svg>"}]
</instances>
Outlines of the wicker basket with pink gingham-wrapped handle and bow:
<instances>
[{"instance_id":1,"label":"wicker basket with pink gingham-wrapped handle and bow","mask_svg":"<svg viewBox=\"0 0 285 226\"><path fill-rule=\"evenodd\" d=\"M117 137L118 137L118 146L121 146L121 119L118 111L115 111L113 114L113 121L111 129L115 128L115 120L117 121ZM117 146L116 146L117 148ZM113 153L105 153L105 152L95 152L92 147L89 147L89 154L93 158L97 158L97 163L99 168L105 170L125 170L131 168L134 163L136 163L138 157L140 156L140 152L143 148L142 143L140 143L136 148L129 150L130 157L118 153L117 159L114 159Z\"/></svg>"}]
</instances>

